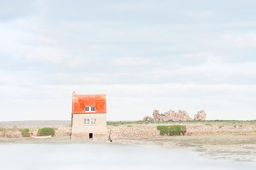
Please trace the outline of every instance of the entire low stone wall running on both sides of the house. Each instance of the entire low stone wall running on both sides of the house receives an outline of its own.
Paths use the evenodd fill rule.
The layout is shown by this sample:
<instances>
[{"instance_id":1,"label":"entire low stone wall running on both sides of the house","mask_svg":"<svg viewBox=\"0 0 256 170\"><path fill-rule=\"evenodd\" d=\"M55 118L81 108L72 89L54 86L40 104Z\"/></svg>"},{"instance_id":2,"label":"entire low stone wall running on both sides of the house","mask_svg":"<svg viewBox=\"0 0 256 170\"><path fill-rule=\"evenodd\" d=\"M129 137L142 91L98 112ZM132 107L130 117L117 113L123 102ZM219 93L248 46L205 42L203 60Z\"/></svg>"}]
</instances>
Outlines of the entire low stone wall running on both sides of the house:
<instances>
[{"instance_id":1,"label":"entire low stone wall running on both sides of the house","mask_svg":"<svg viewBox=\"0 0 256 170\"><path fill-rule=\"evenodd\" d=\"M217 126L201 126L201 127L189 127L186 126L185 135L203 135L203 134L225 134L235 132L250 132L256 130L255 127L217 127ZM36 136L38 129L30 129L30 136ZM55 130L55 136L70 136L71 127L58 127ZM124 139L127 137L154 137L160 136L157 127L143 127L143 126L131 126L131 127L113 127L110 129L110 138ZM20 130L6 130L0 131L0 137L22 137Z\"/></svg>"}]
</instances>

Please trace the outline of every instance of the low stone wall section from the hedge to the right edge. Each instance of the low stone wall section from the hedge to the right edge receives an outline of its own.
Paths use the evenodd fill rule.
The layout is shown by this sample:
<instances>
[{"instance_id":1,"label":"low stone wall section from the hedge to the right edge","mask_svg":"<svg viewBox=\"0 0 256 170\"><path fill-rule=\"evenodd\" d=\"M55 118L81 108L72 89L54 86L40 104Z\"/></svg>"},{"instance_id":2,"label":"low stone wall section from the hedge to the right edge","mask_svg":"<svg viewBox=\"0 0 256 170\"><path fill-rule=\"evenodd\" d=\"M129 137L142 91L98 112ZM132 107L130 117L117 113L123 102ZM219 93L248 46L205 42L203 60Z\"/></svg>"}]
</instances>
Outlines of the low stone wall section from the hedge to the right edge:
<instances>
[{"instance_id":1,"label":"low stone wall section from the hedge to the right edge","mask_svg":"<svg viewBox=\"0 0 256 170\"><path fill-rule=\"evenodd\" d=\"M203 135L203 134L225 134L235 132L250 132L256 130L255 127L233 127L233 126L201 126L201 127L186 127L185 135Z\"/></svg>"}]
</instances>

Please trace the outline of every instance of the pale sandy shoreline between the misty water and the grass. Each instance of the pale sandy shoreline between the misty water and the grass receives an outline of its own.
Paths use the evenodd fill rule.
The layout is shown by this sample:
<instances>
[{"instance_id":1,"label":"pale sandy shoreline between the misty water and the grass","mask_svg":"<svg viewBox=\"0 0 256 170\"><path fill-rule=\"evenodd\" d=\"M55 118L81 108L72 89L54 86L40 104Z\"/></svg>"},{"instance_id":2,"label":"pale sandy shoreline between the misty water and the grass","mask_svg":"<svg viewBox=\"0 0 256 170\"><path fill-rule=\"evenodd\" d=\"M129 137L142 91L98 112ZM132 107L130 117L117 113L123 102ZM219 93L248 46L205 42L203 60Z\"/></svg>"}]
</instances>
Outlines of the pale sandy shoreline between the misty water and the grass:
<instances>
[{"instance_id":1,"label":"pale sandy shoreline between the misty water and the grass","mask_svg":"<svg viewBox=\"0 0 256 170\"><path fill-rule=\"evenodd\" d=\"M164 136L162 136L164 138ZM116 139L113 142L70 140L70 136L54 136L49 139L31 137L0 138L2 144L125 144L151 145L166 149L197 152L199 156L211 160L256 162L256 143L251 144L194 144L177 140L163 141L158 138Z\"/></svg>"}]
</instances>

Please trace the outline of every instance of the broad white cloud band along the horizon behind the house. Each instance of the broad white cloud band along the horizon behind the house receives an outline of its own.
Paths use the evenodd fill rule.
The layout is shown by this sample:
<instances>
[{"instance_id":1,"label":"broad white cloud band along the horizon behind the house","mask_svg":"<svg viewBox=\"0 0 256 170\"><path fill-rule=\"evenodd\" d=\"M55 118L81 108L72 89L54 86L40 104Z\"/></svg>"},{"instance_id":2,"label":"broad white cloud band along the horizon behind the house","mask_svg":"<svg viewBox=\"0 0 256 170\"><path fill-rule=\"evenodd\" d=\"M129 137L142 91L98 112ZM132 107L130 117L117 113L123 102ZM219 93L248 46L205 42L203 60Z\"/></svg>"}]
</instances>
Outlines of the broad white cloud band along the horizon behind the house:
<instances>
[{"instance_id":1,"label":"broad white cloud band along the horizon behind the house","mask_svg":"<svg viewBox=\"0 0 256 170\"><path fill-rule=\"evenodd\" d=\"M160 113L169 109L186 110L191 117L204 109L207 119L255 119L251 111L256 102L256 85L181 83L0 85L0 101L5 103L0 112L6 113L1 119L70 119L73 91L77 94L106 94L108 120L142 119L151 116L154 109ZM14 104L18 107L10 110ZM42 114L45 108L47 113Z\"/></svg>"}]
</instances>

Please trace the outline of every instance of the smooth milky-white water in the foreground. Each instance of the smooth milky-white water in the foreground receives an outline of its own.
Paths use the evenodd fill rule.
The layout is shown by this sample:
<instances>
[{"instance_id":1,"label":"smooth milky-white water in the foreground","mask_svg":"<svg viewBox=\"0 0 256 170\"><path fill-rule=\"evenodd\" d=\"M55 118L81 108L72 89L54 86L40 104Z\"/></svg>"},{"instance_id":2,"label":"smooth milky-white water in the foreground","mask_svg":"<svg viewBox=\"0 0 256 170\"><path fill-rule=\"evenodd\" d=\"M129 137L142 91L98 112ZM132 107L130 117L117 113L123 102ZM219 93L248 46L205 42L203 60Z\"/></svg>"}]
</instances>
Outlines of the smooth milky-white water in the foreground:
<instances>
[{"instance_id":1,"label":"smooth milky-white water in the foreground","mask_svg":"<svg viewBox=\"0 0 256 170\"><path fill-rule=\"evenodd\" d=\"M246 170L256 162L214 161L197 152L125 144L0 144L2 170Z\"/></svg>"}]
</instances>

